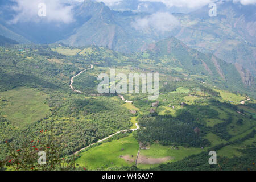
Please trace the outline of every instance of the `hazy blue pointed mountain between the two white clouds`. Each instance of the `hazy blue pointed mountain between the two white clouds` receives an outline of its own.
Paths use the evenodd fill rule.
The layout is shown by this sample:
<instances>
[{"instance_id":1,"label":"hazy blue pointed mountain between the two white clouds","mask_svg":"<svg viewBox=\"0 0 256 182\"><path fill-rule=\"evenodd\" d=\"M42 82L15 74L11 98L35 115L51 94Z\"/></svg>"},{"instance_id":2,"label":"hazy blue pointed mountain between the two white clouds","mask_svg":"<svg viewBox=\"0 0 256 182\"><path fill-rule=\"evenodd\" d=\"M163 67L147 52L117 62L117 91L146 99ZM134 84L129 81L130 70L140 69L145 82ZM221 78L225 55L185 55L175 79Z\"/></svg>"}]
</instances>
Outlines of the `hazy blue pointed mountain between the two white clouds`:
<instances>
[{"instance_id":1,"label":"hazy blue pointed mountain between the two white clouds","mask_svg":"<svg viewBox=\"0 0 256 182\"><path fill-rule=\"evenodd\" d=\"M144 44L144 35L130 26L137 13L112 11L104 3L91 0L86 0L75 11L82 26L75 28L69 38L61 40L65 44L97 45L121 52L137 51Z\"/></svg>"}]
</instances>

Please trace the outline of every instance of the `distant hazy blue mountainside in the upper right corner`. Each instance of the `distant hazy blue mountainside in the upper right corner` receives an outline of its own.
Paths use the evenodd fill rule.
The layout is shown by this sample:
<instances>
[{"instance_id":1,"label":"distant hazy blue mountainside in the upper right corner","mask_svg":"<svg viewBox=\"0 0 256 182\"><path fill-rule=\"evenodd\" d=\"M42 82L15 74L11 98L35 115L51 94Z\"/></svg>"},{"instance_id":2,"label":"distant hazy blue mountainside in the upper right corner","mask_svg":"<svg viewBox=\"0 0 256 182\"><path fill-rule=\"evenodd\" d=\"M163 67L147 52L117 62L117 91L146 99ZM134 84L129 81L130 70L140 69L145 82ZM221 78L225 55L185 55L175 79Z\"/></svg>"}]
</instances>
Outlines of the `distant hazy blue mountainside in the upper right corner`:
<instances>
[{"instance_id":1,"label":"distant hazy blue mountainside in the upper right corner","mask_svg":"<svg viewBox=\"0 0 256 182\"><path fill-rule=\"evenodd\" d=\"M181 29L175 37L199 51L214 53L255 73L255 7L224 1L217 4L216 17L208 15L208 6L186 15L176 14Z\"/></svg>"}]
</instances>

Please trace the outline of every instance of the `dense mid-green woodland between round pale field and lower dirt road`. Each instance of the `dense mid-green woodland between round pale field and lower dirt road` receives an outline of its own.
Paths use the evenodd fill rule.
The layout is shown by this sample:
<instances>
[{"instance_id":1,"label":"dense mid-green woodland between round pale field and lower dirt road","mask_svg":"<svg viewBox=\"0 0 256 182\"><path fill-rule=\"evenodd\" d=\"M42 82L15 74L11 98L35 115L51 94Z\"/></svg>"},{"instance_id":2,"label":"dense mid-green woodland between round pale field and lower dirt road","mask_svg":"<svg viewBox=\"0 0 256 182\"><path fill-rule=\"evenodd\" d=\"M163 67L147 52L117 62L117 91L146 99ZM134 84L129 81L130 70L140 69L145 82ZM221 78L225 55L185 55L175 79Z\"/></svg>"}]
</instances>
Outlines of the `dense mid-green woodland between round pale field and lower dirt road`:
<instances>
[{"instance_id":1,"label":"dense mid-green woodland between round pale field and lower dirt road","mask_svg":"<svg viewBox=\"0 0 256 182\"><path fill-rule=\"evenodd\" d=\"M51 93L53 94L53 93ZM64 154L69 155L89 146L102 138L120 131L129 129L131 114L119 101L102 97L101 100L77 99L76 95L68 96L55 93L48 98L52 115L31 123L24 128L13 127L5 118L0 122L0 139L10 140L15 146L20 146L24 136L32 136L41 128L52 130L55 136L61 137L61 144L65 146ZM66 100L63 100L63 97ZM120 101L121 102L121 101ZM0 159L6 155L4 143L0 143Z\"/></svg>"}]
</instances>

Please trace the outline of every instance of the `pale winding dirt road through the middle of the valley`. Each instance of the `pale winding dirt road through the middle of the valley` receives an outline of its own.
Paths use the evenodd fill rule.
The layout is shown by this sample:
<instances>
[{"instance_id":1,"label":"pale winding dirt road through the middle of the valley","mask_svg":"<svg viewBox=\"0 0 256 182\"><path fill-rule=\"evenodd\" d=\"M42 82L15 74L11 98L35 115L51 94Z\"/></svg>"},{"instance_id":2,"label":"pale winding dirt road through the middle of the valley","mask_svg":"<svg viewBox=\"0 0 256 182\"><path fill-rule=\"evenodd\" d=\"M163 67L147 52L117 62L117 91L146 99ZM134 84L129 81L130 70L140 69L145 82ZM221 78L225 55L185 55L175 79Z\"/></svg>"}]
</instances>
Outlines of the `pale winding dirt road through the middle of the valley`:
<instances>
[{"instance_id":1,"label":"pale winding dirt road through the middle of the valley","mask_svg":"<svg viewBox=\"0 0 256 182\"><path fill-rule=\"evenodd\" d=\"M91 65L90 65L90 68L84 69L83 71L79 72L77 75L75 75L75 76L73 76L73 77L71 78L71 84L70 84L69 86L70 86L70 88L73 90L73 92L82 93L80 90L76 90L75 88L73 88L72 84L73 84L73 82L74 82L74 78L75 78L75 77L81 75L81 73L87 71L88 69L93 69L93 65L91 64ZM133 101L127 101L127 100L125 100L125 98L123 98L122 95L118 95L118 96L119 96L124 102L126 102L126 103L132 103L132 102L133 102ZM130 129L130 131L135 131L135 130L138 130L138 129L139 129L138 123L135 123L135 125L136 125L136 129ZM90 146L93 146L93 145L96 144L96 143L103 142L104 140L106 140L106 139L108 139L108 138L110 138L110 137L113 137L114 135L117 135L117 134L123 133L123 132L127 132L127 131L129 131L129 130L117 131L117 133L114 133L114 134L112 134L112 135L109 135L109 137L106 137L106 138L104 138L104 139L98 140L97 142L92 143L92 144L90 144L90 145L87 146L87 147L81 148L79 151L76 151L74 154L77 154L78 152L80 152L80 151L82 151L82 150L85 150L86 148L88 148L88 147L90 147Z\"/></svg>"}]
</instances>

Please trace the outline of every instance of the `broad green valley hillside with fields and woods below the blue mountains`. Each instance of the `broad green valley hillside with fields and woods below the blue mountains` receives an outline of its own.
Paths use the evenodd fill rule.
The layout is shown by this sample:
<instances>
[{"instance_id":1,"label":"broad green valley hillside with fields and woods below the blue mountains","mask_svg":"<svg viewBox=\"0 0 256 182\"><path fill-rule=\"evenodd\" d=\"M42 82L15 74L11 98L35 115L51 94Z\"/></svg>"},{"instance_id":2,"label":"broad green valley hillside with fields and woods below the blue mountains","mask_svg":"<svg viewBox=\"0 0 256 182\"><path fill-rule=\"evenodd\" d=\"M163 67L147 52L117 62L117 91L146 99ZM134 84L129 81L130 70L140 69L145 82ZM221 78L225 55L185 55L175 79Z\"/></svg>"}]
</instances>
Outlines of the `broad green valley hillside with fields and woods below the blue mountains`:
<instances>
[{"instance_id":1,"label":"broad green valley hillside with fields and woods below the blue mountains","mask_svg":"<svg viewBox=\"0 0 256 182\"><path fill-rule=\"evenodd\" d=\"M221 88L225 80L233 81L229 72L235 66L176 38L133 55L59 44L0 47L0 54L0 139L15 148L47 129L61 138L64 158L88 147L79 152L77 169L85 165L88 170L133 169L139 143L150 149L139 153L137 169L185 170L180 164L184 159L196 160L208 150L217 150L223 169L234 167L234 159L240 160L242 168L249 165L246 157L255 150L255 100L245 100L255 90L232 93L232 85ZM73 87L83 94L72 92L71 77L90 64L93 69L73 80ZM158 106L152 107L155 101L148 101L145 94L123 95L133 103L123 102L116 94L98 95L97 76L109 74L110 68L116 73L160 73ZM134 129L135 123L141 129L90 146L118 131ZM0 147L2 160L7 155L5 142ZM227 159L232 162L222 166ZM199 165L199 170L209 169L203 162Z\"/></svg>"}]
</instances>

